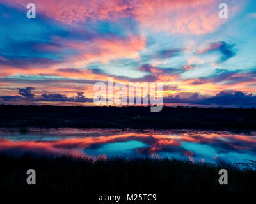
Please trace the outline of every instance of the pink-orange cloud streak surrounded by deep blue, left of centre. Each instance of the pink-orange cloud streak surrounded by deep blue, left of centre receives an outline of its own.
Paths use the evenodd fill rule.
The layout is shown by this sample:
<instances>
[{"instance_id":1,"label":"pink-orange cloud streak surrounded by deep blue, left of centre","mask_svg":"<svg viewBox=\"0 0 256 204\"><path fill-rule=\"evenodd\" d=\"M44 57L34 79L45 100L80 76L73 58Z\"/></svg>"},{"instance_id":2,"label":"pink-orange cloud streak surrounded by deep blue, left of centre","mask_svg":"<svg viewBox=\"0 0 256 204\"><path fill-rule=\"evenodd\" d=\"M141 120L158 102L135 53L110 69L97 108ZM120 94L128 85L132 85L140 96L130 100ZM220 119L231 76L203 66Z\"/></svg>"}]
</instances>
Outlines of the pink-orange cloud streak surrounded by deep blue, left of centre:
<instances>
[{"instance_id":1,"label":"pink-orange cloud streak surrounded by deep blue, left of centre","mask_svg":"<svg viewBox=\"0 0 256 204\"><path fill-rule=\"evenodd\" d=\"M142 36L112 37L109 39L95 38L92 41L68 41L62 38L54 38L53 41L59 42L63 47L39 44L37 49L51 50L53 52L74 49L79 54L72 55L67 59L74 67L95 61L106 63L111 59L123 57L138 58L138 52L146 46L146 39Z\"/></svg>"}]
</instances>

